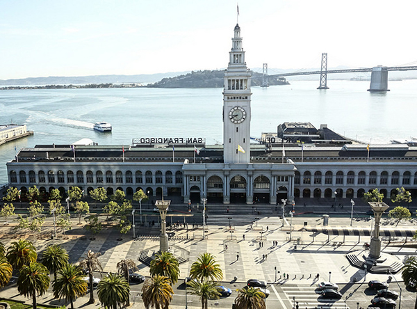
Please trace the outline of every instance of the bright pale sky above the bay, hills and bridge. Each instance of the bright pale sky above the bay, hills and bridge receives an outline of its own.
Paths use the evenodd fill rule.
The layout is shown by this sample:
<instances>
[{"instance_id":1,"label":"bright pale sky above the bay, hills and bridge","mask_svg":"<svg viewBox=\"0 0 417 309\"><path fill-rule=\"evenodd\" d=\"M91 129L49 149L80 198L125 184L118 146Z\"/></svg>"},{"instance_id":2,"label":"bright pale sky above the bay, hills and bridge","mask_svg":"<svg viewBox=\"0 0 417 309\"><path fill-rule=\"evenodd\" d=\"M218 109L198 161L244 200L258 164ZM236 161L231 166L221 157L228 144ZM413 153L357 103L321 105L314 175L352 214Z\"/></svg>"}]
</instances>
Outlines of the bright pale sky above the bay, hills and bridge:
<instances>
[{"instance_id":1,"label":"bright pale sky above the bay, hills and bridge","mask_svg":"<svg viewBox=\"0 0 417 309\"><path fill-rule=\"evenodd\" d=\"M0 79L227 68L230 0L0 0ZM415 65L411 0L240 0L248 68Z\"/></svg>"}]
</instances>

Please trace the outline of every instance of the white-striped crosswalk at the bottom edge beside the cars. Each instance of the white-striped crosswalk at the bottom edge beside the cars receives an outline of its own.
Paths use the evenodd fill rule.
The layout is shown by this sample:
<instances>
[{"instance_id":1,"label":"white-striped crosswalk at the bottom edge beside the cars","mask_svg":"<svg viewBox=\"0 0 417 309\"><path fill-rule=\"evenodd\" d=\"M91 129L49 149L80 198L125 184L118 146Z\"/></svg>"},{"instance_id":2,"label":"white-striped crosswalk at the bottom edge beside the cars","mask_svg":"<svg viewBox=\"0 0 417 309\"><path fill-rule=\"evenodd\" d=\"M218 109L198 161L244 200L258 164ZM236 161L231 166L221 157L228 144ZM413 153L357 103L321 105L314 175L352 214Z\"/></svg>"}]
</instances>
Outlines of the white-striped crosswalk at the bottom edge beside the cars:
<instances>
[{"instance_id":1,"label":"white-striped crosswalk at the bottom edge beside the cars","mask_svg":"<svg viewBox=\"0 0 417 309\"><path fill-rule=\"evenodd\" d=\"M349 309L343 299L323 299L316 293L316 286L286 286L281 285L281 289L286 294L288 301L297 303L300 309Z\"/></svg>"}]
</instances>

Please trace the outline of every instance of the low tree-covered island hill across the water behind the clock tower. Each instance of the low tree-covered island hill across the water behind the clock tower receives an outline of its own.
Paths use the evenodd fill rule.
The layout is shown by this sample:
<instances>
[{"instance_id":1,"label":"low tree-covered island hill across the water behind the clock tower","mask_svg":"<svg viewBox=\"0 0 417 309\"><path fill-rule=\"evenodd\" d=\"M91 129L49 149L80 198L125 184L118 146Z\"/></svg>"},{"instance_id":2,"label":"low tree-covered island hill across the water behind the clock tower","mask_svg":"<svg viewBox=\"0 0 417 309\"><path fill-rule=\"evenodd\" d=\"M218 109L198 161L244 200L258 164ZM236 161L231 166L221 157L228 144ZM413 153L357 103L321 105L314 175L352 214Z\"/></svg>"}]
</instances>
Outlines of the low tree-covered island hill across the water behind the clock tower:
<instances>
[{"instance_id":1,"label":"low tree-covered island hill across the water behind the clock tower","mask_svg":"<svg viewBox=\"0 0 417 309\"><path fill-rule=\"evenodd\" d=\"M252 72L252 86L261 86L262 74ZM288 85L284 78L268 79L269 85ZM166 77L154 84L148 84L150 88L222 88L224 85L224 70L192 71L177 77Z\"/></svg>"}]
</instances>

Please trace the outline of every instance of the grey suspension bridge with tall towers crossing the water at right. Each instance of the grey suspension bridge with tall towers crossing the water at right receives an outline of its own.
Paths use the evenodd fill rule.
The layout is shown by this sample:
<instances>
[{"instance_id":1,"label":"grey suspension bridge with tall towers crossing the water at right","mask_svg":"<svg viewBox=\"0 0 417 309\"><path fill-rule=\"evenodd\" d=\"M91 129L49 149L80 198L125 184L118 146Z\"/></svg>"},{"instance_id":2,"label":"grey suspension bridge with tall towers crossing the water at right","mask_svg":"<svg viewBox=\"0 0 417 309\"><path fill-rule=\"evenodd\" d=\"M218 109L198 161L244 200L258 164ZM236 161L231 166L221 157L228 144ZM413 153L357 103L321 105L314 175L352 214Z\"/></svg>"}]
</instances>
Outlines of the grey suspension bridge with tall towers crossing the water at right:
<instances>
[{"instance_id":1,"label":"grey suspension bridge with tall towers crossing the water at right","mask_svg":"<svg viewBox=\"0 0 417 309\"><path fill-rule=\"evenodd\" d=\"M287 76L313 75L320 74L320 86L318 89L329 89L327 86L327 74L333 73L352 73L352 72L371 72L370 88L368 91L384 92L388 89L388 72L389 71L409 71L417 70L417 66L395 66L385 67L378 65L373 68L359 68L359 69L341 69L341 70L327 70L327 53L322 53L321 69L320 71L310 72L292 72L268 75L268 64L263 63L262 85L261 87L268 87L268 78L278 78Z\"/></svg>"}]
</instances>

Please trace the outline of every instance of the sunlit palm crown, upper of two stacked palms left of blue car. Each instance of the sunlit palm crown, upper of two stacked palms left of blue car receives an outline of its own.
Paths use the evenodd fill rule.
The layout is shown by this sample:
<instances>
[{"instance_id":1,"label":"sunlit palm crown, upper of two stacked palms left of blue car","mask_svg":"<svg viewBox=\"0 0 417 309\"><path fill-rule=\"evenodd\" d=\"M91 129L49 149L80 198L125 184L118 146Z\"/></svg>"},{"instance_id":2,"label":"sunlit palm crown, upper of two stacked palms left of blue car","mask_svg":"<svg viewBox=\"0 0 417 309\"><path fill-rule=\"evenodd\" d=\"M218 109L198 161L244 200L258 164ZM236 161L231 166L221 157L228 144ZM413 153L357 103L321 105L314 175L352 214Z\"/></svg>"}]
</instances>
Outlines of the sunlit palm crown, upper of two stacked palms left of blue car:
<instances>
[{"instance_id":1,"label":"sunlit palm crown, upper of two stacked palms left of blue car","mask_svg":"<svg viewBox=\"0 0 417 309\"><path fill-rule=\"evenodd\" d=\"M191 265L190 276L200 281L210 279L220 281L223 278L223 271L220 265L216 264L215 256L211 253L202 253L197 261Z\"/></svg>"}]
</instances>

